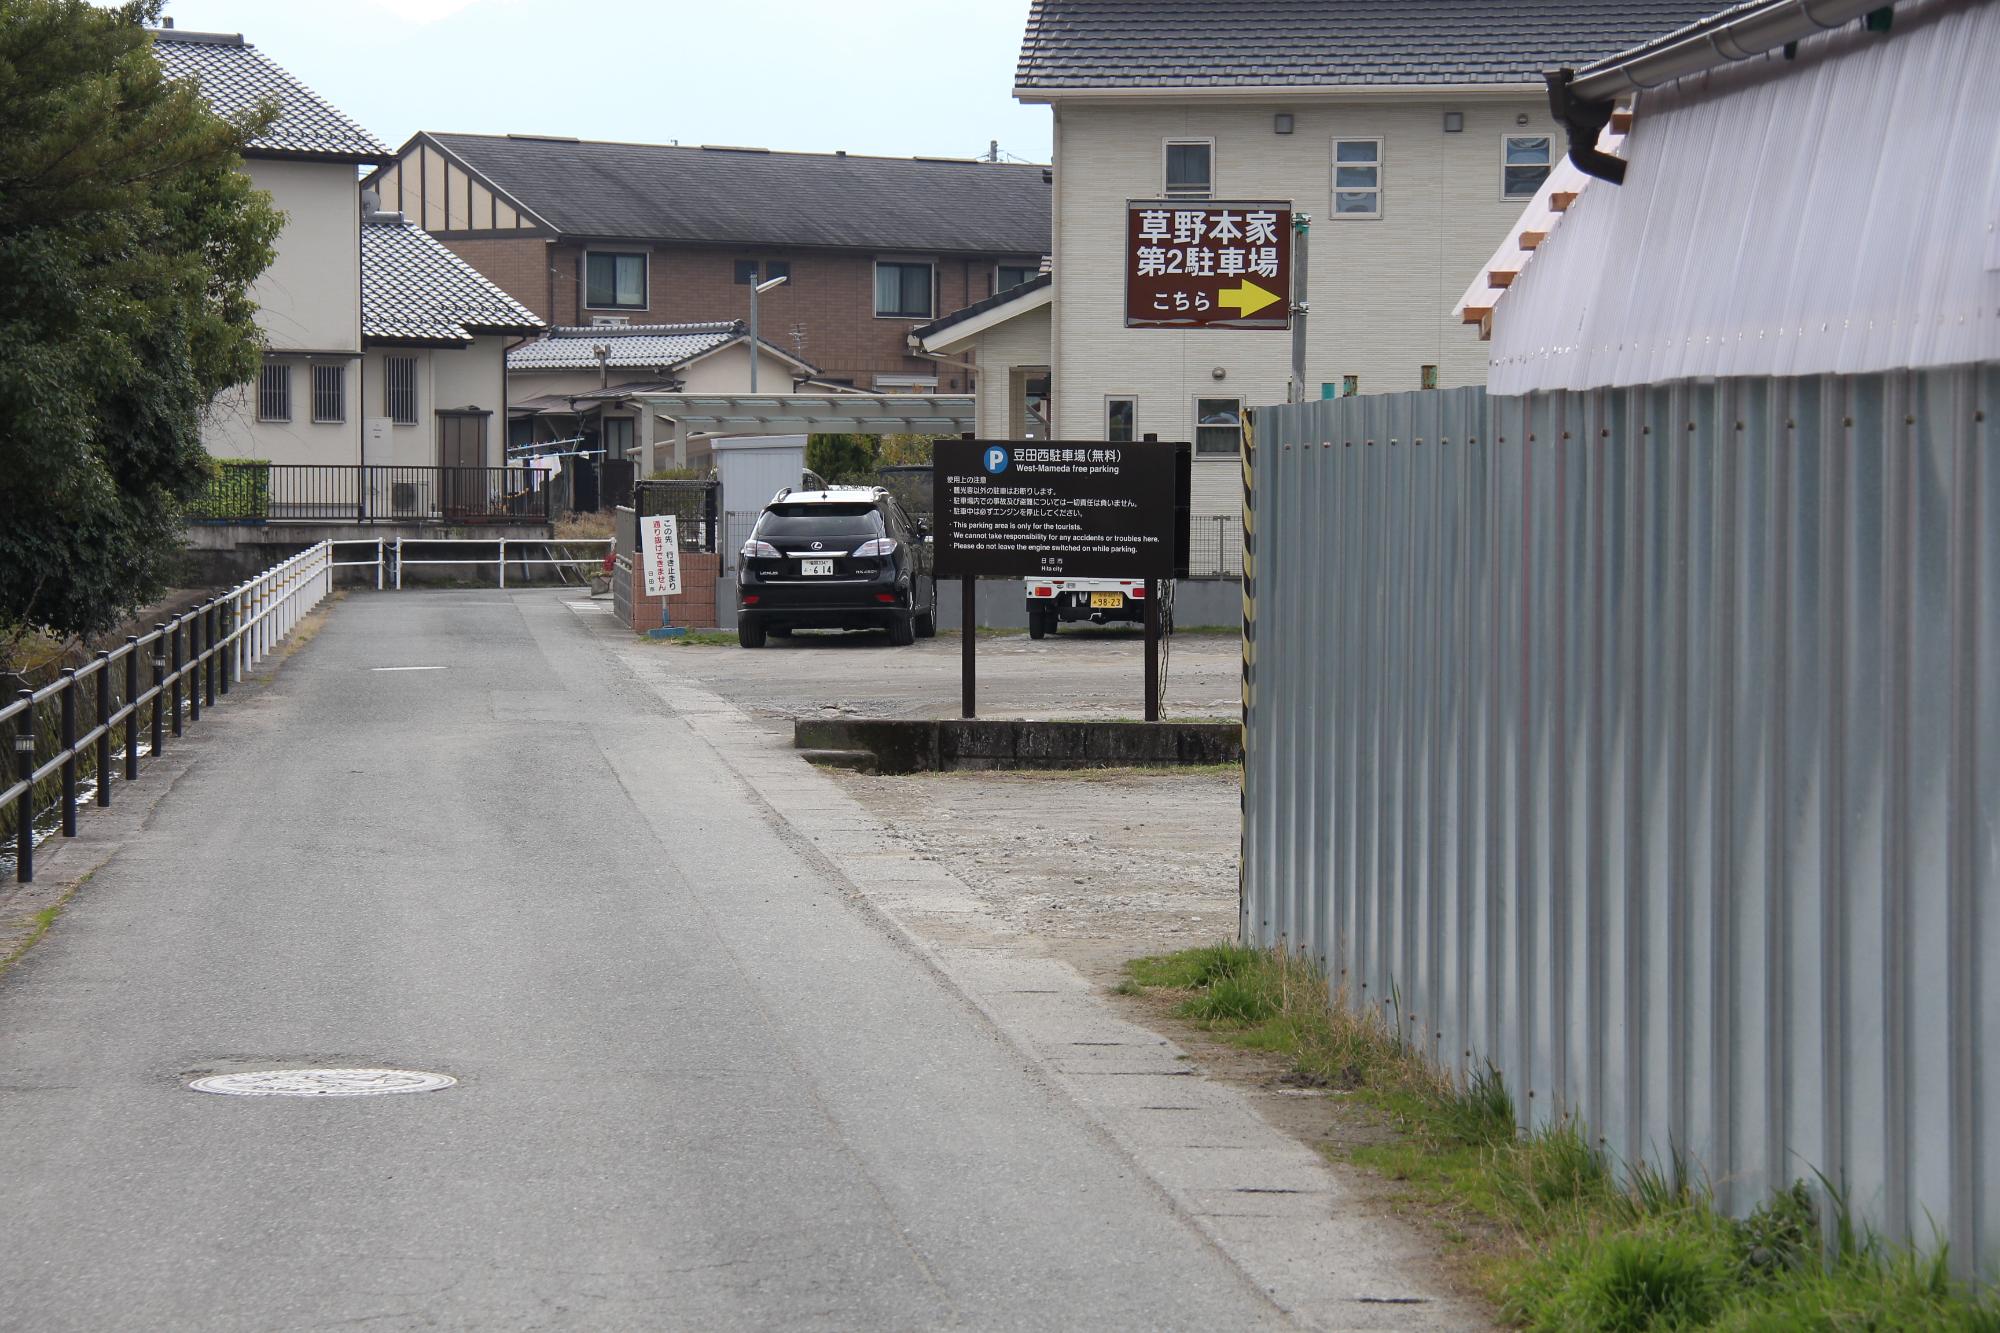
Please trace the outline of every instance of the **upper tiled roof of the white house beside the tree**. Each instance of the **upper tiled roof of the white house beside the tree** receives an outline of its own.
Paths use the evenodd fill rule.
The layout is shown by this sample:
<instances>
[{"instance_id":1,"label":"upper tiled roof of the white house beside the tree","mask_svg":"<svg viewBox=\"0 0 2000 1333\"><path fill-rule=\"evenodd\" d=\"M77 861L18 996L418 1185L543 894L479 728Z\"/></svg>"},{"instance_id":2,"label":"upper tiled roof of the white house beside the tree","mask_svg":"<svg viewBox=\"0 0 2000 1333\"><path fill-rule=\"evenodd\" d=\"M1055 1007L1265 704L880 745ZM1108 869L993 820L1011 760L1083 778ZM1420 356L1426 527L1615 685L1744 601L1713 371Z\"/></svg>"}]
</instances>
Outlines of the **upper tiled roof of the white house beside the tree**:
<instances>
[{"instance_id":1,"label":"upper tiled roof of the white house beside the tree","mask_svg":"<svg viewBox=\"0 0 2000 1333\"><path fill-rule=\"evenodd\" d=\"M168 78L196 80L218 116L234 118L256 110L266 98L276 100L278 120L250 140L254 154L342 162L388 162L394 156L382 140L342 116L240 34L164 28L152 34L152 54Z\"/></svg>"}]
</instances>

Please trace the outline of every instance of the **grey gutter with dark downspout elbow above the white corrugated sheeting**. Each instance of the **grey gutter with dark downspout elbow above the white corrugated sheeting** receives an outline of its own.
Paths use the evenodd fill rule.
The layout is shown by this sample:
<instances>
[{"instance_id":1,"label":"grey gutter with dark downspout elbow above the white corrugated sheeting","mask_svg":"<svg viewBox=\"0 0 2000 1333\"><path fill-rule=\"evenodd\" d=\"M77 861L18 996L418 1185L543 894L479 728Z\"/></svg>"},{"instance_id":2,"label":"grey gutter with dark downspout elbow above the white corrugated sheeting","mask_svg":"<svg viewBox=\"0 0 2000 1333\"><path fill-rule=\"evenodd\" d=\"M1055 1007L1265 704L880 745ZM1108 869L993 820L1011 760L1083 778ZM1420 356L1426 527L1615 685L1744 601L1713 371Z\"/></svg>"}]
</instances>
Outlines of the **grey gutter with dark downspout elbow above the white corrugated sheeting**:
<instances>
[{"instance_id":1,"label":"grey gutter with dark downspout elbow above the white corrugated sheeting","mask_svg":"<svg viewBox=\"0 0 2000 1333\"><path fill-rule=\"evenodd\" d=\"M1598 180L1620 184L1624 160L1598 150L1612 100L1724 64L1756 60L1856 18L1890 12L1884 0L1764 0L1704 18L1666 36L1576 70L1550 70L1548 108L1570 134L1570 162ZM1888 24L1882 24L1884 28Z\"/></svg>"}]
</instances>

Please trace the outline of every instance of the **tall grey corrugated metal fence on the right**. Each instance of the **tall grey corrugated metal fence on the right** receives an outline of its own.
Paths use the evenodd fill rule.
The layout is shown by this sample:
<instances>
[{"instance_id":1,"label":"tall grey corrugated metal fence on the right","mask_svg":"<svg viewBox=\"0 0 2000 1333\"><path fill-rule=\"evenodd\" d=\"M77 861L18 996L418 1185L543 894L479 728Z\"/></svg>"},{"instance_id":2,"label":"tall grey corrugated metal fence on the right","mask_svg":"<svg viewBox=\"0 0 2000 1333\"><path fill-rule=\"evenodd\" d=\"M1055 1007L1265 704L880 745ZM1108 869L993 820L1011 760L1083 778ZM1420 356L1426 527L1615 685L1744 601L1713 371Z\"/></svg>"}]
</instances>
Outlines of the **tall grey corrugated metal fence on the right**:
<instances>
[{"instance_id":1,"label":"tall grey corrugated metal fence on the right","mask_svg":"<svg viewBox=\"0 0 2000 1333\"><path fill-rule=\"evenodd\" d=\"M2000 1267L2000 368L1256 414L1244 937Z\"/></svg>"}]
</instances>

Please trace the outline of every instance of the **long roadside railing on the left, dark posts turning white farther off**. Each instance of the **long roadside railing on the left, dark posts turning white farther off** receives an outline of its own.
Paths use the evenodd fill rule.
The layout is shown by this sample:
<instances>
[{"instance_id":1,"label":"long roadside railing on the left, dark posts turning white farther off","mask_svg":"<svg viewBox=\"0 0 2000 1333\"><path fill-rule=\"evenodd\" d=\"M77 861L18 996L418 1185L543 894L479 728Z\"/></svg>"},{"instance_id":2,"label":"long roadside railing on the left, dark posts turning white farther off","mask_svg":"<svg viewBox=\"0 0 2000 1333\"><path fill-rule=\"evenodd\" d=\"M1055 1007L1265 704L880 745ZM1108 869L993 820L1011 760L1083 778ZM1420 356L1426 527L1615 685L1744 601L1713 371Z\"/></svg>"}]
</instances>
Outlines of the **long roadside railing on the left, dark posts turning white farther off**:
<instances>
[{"instance_id":1,"label":"long roadside railing on the left, dark posts turning white farther off","mask_svg":"<svg viewBox=\"0 0 2000 1333\"><path fill-rule=\"evenodd\" d=\"M94 763L96 803L112 803L112 739L124 751L124 781L138 781L140 717L146 713L148 759L166 753L168 735L180 737L202 709L214 709L276 648L298 620L326 596L334 582L334 542L318 542L274 564L256 578L236 584L192 610L156 624L150 634L134 634L124 646L98 652L96 660L64 669L62 677L38 691L20 691L0 707L0 735L12 733L14 781L0 791L0 807L14 807L14 879L34 881L34 793L36 785L60 775L62 837L76 837L80 761ZM142 666L150 685L140 683ZM78 731L80 693L90 691L92 727ZM114 697L122 699L114 707ZM40 757L38 713L44 705L60 713L56 751ZM150 705L150 709L148 709Z\"/></svg>"}]
</instances>

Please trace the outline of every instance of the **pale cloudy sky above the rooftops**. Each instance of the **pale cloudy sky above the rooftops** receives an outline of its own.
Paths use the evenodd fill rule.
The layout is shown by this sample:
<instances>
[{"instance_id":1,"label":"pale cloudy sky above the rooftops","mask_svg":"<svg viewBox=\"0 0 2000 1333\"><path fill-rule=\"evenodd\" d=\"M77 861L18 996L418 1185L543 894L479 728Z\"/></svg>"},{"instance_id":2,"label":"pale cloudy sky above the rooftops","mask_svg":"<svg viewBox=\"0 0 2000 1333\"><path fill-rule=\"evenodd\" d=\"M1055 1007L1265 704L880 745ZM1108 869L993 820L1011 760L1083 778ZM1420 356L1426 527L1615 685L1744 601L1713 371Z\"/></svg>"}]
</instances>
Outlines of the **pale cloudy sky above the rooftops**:
<instances>
[{"instance_id":1,"label":"pale cloudy sky above the rooftops","mask_svg":"<svg viewBox=\"0 0 2000 1333\"><path fill-rule=\"evenodd\" d=\"M418 130L1046 162L1028 0L168 0L392 148Z\"/></svg>"}]
</instances>

